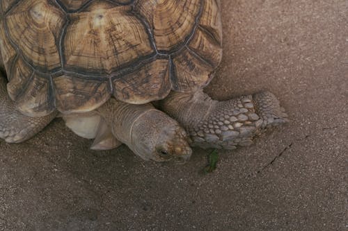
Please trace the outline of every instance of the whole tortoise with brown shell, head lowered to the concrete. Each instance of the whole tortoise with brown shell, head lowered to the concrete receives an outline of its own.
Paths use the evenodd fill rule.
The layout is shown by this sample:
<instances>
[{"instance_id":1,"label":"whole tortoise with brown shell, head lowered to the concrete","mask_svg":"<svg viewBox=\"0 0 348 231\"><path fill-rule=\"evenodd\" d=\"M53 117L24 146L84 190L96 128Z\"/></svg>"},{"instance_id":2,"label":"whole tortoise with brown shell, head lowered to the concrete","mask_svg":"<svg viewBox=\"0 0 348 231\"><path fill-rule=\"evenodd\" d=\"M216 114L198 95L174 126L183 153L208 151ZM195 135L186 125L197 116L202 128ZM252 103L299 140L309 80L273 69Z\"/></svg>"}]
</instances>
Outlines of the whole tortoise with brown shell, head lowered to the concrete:
<instances>
[{"instance_id":1,"label":"whole tortoise with brown shell, head lowered to the concrete","mask_svg":"<svg viewBox=\"0 0 348 231\"><path fill-rule=\"evenodd\" d=\"M287 115L270 92L203 92L221 62L220 10L219 0L2 0L0 137L24 142L63 117L91 148L124 143L144 160L251 144Z\"/></svg>"}]
</instances>

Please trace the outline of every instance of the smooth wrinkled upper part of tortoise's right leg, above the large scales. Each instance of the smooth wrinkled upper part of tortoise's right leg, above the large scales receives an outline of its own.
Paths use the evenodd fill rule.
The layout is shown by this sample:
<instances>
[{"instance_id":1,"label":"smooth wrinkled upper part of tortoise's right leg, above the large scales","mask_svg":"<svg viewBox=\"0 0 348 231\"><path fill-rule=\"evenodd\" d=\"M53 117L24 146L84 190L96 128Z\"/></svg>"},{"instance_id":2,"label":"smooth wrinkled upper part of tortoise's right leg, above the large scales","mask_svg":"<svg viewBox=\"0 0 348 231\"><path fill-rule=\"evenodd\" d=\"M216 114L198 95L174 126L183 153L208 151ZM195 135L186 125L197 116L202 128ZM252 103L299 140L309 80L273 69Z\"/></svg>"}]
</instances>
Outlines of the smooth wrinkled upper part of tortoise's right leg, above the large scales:
<instances>
[{"instance_id":1,"label":"smooth wrinkled upper part of tortoise's right leg, above the large scales","mask_svg":"<svg viewBox=\"0 0 348 231\"><path fill-rule=\"evenodd\" d=\"M218 101L211 99L203 90L194 94L171 92L166 99L159 102L159 108L170 112L171 117L180 121L186 129L197 126L214 111Z\"/></svg>"}]
</instances>

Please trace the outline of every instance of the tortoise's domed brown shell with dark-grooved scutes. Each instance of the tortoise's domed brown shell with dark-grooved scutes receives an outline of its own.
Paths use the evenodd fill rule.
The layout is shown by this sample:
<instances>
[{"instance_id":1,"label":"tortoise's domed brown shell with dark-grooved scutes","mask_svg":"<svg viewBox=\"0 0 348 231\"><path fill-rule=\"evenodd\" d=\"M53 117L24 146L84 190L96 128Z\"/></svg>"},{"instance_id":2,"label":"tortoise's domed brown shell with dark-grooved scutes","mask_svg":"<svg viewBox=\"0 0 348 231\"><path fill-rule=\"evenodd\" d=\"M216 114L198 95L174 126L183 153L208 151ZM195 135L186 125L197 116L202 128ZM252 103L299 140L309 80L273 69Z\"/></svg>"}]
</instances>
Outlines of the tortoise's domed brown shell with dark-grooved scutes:
<instances>
[{"instance_id":1,"label":"tortoise's domed brown shell with dark-grooved scutes","mask_svg":"<svg viewBox=\"0 0 348 231\"><path fill-rule=\"evenodd\" d=\"M221 61L219 0L1 0L8 94L29 116L205 87Z\"/></svg>"}]
</instances>

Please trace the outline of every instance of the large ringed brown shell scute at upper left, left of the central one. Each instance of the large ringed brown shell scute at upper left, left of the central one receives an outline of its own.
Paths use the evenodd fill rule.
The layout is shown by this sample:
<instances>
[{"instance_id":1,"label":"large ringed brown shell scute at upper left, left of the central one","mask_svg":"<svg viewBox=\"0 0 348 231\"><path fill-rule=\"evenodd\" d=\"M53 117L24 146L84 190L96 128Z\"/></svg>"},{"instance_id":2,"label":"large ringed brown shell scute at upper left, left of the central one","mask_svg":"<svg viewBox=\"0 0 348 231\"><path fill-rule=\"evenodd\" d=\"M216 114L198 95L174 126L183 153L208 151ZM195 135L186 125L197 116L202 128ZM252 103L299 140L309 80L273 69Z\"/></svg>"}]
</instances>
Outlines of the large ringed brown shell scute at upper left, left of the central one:
<instances>
[{"instance_id":1,"label":"large ringed brown shell scute at upper left, left of the central one","mask_svg":"<svg viewBox=\"0 0 348 231\"><path fill-rule=\"evenodd\" d=\"M12 8L5 24L8 37L35 69L44 73L61 69L57 41L65 15L51 1L24 1Z\"/></svg>"}]
</instances>

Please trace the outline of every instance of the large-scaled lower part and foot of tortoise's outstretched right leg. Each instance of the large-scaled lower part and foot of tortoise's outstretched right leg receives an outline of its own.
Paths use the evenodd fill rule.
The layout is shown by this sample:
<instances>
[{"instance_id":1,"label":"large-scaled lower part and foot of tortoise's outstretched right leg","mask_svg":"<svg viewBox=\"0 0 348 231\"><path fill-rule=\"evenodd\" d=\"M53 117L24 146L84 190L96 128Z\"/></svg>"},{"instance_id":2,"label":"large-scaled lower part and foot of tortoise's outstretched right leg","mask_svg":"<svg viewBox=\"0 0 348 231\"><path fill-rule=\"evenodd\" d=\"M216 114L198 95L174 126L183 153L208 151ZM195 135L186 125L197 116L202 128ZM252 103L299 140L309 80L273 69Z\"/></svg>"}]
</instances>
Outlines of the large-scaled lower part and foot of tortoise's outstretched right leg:
<instances>
[{"instance_id":1,"label":"large-scaled lower part and foot of tortoise's outstretched right leg","mask_svg":"<svg viewBox=\"0 0 348 231\"><path fill-rule=\"evenodd\" d=\"M232 150L249 146L265 128L287 121L287 114L274 94L261 92L230 101L218 101L207 119L189 128L193 145Z\"/></svg>"}]
</instances>

